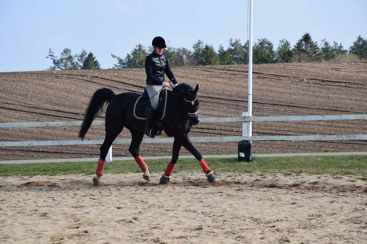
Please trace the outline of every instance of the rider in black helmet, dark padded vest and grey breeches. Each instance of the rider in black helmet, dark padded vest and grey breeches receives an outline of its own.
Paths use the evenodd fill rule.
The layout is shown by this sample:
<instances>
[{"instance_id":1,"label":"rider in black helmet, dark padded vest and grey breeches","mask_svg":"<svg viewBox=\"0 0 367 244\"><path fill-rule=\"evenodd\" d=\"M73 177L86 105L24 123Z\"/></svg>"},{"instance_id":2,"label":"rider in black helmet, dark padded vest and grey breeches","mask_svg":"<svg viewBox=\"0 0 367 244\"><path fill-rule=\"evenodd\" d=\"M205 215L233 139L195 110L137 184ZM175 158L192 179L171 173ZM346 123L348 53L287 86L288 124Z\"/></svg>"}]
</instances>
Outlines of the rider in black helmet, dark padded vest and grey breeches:
<instances>
[{"instance_id":1,"label":"rider in black helmet, dark padded vest and grey breeches","mask_svg":"<svg viewBox=\"0 0 367 244\"><path fill-rule=\"evenodd\" d=\"M168 89L170 85L164 79L164 73L172 81L175 87L178 85L173 75L167 58L162 54L166 48L166 42L162 37L155 37L152 41L153 52L145 58L146 90L148 91L151 106L146 115L144 133L154 138L153 119L158 107L159 91Z\"/></svg>"}]
</instances>

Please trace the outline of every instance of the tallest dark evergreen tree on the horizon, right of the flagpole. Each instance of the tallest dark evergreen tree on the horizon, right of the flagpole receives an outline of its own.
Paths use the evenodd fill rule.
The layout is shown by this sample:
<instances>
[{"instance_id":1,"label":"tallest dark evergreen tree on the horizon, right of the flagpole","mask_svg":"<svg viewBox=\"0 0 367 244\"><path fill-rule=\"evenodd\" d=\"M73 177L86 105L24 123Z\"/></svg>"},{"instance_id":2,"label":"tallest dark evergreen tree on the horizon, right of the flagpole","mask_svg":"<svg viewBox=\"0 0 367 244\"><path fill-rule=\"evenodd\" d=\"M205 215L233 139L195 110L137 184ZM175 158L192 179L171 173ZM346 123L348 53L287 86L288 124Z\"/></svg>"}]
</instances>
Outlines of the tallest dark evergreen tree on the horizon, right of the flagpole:
<instances>
[{"instance_id":1,"label":"tallest dark evergreen tree on the horizon, right of the flagpole","mask_svg":"<svg viewBox=\"0 0 367 244\"><path fill-rule=\"evenodd\" d=\"M297 55L304 54L311 61L320 61L322 57L320 48L317 46L317 41L314 42L311 35L307 32L294 45L293 52Z\"/></svg>"}]
</instances>

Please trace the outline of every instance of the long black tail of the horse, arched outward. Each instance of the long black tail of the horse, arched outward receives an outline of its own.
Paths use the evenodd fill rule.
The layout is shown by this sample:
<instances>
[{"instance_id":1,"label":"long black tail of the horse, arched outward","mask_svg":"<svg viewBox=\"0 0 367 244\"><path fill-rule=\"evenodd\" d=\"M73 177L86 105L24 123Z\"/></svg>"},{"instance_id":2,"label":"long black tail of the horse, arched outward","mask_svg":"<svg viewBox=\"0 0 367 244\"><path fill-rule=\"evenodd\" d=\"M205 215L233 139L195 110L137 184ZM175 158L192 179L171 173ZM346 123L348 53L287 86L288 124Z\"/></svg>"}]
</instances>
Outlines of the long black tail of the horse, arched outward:
<instances>
[{"instance_id":1,"label":"long black tail of the horse, arched outward","mask_svg":"<svg viewBox=\"0 0 367 244\"><path fill-rule=\"evenodd\" d=\"M107 105L115 95L116 94L108 88L102 88L95 91L84 113L83 123L79 131L79 138L81 138L81 140L84 140L84 136L87 134L95 117L101 115L103 112L103 106Z\"/></svg>"}]
</instances>

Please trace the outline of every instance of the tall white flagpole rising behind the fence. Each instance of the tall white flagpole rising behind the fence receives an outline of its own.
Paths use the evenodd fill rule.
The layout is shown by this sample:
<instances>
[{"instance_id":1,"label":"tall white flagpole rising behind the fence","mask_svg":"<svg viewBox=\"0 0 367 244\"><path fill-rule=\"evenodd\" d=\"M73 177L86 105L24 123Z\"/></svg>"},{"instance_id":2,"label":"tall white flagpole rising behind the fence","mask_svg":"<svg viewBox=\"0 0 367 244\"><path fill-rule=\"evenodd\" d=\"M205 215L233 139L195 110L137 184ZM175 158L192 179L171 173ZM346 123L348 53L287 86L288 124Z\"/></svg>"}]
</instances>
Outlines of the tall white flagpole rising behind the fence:
<instances>
[{"instance_id":1,"label":"tall white flagpole rising behind the fence","mask_svg":"<svg viewBox=\"0 0 367 244\"><path fill-rule=\"evenodd\" d=\"M252 2L250 0L250 33L248 40L248 116L252 117ZM252 122L248 122L247 135L252 136Z\"/></svg>"}]
</instances>

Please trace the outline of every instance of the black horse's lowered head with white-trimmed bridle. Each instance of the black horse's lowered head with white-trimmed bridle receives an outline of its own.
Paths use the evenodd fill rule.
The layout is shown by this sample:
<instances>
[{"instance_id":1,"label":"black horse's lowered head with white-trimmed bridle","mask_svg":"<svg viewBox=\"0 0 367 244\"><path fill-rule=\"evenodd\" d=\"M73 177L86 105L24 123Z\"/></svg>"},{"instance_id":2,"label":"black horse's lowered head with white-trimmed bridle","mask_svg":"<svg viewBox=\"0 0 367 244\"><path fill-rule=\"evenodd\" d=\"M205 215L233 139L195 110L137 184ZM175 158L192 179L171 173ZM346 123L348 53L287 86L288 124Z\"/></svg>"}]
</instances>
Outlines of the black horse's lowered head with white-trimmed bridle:
<instances>
[{"instance_id":1,"label":"black horse's lowered head with white-trimmed bridle","mask_svg":"<svg viewBox=\"0 0 367 244\"><path fill-rule=\"evenodd\" d=\"M181 83L185 84L185 83ZM180 85L181 85L180 84ZM190 124L197 125L199 124L199 98L197 97L197 91L199 90L199 84L196 85L195 89L192 86L185 84L186 86L176 87L179 88L180 93L182 94L183 98L183 108L185 108L186 112L190 116Z\"/></svg>"}]
</instances>

